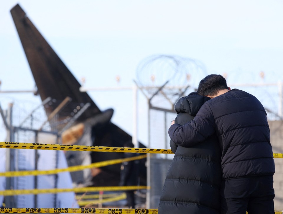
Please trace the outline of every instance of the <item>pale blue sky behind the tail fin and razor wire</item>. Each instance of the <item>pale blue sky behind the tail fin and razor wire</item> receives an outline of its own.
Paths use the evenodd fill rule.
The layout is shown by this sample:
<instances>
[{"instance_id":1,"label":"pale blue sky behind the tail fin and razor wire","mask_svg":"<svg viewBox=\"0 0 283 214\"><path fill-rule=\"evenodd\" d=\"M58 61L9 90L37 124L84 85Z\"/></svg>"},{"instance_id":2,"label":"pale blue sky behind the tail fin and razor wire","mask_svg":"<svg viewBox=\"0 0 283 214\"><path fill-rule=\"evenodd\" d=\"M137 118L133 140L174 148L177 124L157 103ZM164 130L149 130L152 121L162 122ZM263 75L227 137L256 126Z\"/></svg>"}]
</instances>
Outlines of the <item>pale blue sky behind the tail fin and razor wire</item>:
<instances>
[{"instance_id":1,"label":"pale blue sky behind the tail fin and razor wire","mask_svg":"<svg viewBox=\"0 0 283 214\"><path fill-rule=\"evenodd\" d=\"M208 73L228 73L228 84L259 82L261 71L265 72L265 82L283 80L283 2L279 0L2 0L0 87L3 91L34 87L9 12L17 3L73 75L78 80L86 78L86 87L132 86L139 62L154 54L198 59ZM119 84L115 80L117 75L121 76ZM101 110L113 107L112 121L132 133L131 92L89 94ZM0 94L4 109L11 100L40 102L29 94ZM138 139L147 144L146 100L142 94L139 94L139 107L142 116ZM0 122L0 141L4 137Z\"/></svg>"}]
</instances>

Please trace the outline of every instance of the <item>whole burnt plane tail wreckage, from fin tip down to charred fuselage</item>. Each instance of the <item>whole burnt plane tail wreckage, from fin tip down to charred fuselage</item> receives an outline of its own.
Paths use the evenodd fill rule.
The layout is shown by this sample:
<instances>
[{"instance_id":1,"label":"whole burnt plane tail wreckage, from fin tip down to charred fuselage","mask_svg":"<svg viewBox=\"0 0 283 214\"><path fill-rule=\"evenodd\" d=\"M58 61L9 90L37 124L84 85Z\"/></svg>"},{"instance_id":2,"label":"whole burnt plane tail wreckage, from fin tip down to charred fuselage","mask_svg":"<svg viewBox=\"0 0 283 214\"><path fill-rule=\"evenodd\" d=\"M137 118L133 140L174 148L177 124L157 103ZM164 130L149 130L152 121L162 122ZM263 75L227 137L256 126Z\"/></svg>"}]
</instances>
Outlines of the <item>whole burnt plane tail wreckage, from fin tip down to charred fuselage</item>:
<instances>
[{"instance_id":1,"label":"whole burnt plane tail wreckage, from fin tip down to charred fuselage","mask_svg":"<svg viewBox=\"0 0 283 214\"><path fill-rule=\"evenodd\" d=\"M111 122L113 109L101 111L50 47L26 13L17 4L11 9L19 38L24 48L37 93L42 101L49 97L52 102L44 105L47 116L56 113L56 121L50 120L53 130L61 134L63 144L86 146L124 147L132 137ZM62 110L56 111L61 105ZM77 112L76 114L74 112ZM70 125L72 124L72 125ZM140 148L145 146L139 143ZM69 166L124 158L124 153L67 151ZM116 186L120 180L121 164L93 168L88 172L72 172L73 182L91 186ZM146 185L145 160L138 164L140 185Z\"/></svg>"}]
</instances>

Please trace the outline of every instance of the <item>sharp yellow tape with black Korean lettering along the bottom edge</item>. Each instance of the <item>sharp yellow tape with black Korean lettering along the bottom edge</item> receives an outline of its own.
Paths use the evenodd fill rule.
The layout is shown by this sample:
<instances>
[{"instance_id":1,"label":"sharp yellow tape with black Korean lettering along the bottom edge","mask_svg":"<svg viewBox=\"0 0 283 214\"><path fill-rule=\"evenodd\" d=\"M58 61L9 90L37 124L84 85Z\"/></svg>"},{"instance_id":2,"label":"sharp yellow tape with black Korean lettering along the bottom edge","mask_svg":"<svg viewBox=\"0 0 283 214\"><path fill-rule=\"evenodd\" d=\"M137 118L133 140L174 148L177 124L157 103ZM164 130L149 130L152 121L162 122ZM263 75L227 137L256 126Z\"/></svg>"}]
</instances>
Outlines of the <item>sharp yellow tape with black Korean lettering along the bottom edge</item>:
<instances>
[{"instance_id":1,"label":"sharp yellow tape with black Korean lettering along the bottom edge","mask_svg":"<svg viewBox=\"0 0 283 214\"><path fill-rule=\"evenodd\" d=\"M157 209L117 209L117 208L0 208L0 213L158 214L158 210Z\"/></svg>"}]
</instances>

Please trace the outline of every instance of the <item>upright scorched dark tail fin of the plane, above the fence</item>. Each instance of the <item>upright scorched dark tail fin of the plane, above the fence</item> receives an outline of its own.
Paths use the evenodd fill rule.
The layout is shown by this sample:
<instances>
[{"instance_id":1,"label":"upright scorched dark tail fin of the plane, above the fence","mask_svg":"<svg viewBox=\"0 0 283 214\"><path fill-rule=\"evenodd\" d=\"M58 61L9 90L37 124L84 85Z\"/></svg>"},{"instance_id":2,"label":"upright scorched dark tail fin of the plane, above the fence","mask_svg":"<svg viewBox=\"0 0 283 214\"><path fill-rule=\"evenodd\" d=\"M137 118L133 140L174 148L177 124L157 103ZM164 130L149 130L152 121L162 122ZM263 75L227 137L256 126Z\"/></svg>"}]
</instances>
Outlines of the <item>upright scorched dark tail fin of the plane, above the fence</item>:
<instances>
[{"instance_id":1,"label":"upright scorched dark tail fin of the plane, above the fence","mask_svg":"<svg viewBox=\"0 0 283 214\"><path fill-rule=\"evenodd\" d=\"M101 113L88 94L80 92L79 82L29 20L19 4L11 9L11 15L41 99L51 97L62 101L68 96L73 103L90 103L91 106L80 116L80 120ZM45 110L51 113L55 107L46 106ZM65 117L59 114L60 116L62 119Z\"/></svg>"}]
</instances>

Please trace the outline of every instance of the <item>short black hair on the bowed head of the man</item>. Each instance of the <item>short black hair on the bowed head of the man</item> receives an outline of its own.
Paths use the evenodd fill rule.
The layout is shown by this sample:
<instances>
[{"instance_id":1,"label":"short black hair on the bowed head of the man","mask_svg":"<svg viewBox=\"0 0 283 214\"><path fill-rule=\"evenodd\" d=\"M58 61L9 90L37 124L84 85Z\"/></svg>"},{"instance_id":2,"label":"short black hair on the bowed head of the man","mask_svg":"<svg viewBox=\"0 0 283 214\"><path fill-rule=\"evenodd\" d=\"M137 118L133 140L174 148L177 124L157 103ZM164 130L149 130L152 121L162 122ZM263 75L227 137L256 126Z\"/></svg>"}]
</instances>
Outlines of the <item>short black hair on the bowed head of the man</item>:
<instances>
[{"instance_id":1,"label":"short black hair on the bowed head of the man","mask_svg":"<svg viewBox=\"0 0 283 214\"><path fill-rule=\"evenodd\" d=\"M202 96L215 96L223 89L228 89L226 79L220 74L210 74L200 81L198 94Z\"/></svg>"}]
</instances>

